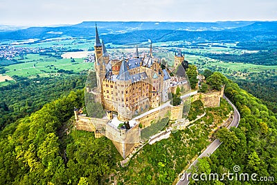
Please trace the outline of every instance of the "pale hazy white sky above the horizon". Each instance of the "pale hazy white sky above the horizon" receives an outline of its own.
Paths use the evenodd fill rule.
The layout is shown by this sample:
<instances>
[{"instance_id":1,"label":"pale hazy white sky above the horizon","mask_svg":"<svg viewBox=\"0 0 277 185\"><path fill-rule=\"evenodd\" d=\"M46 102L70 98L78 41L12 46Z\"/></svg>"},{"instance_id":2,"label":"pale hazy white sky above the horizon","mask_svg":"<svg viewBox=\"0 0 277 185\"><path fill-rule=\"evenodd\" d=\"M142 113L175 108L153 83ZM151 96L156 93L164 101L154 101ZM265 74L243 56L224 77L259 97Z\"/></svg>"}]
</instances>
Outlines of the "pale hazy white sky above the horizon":
<instances>
[{"instance_id":1,"label":"pale hazy white sky above the horizon","mask_svg":"<svg viewBox=\"0 0 277 185\"><path fill-rule=\"evenodd\" d=\"M82 21L276 21L276 0L0 0L0 24Z\"/></svg>"}]
</instances>

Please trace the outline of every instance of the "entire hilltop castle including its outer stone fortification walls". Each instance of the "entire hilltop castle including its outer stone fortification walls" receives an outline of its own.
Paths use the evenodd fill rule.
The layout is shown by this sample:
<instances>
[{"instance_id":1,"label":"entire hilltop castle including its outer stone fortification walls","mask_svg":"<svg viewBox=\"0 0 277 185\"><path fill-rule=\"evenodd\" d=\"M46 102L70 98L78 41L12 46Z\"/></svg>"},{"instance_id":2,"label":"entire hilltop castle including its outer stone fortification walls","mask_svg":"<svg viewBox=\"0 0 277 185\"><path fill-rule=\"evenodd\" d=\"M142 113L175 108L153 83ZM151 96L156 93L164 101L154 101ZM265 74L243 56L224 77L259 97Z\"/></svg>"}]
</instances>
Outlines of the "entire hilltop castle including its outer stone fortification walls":
<instances>
[{"instance_id":1,"label":"entire hilltop castle including its outer stone fortification walls","mask_svg":"<svg viewBox=\"0 0 277 185\"><path fill-rule=\"evenodd\" d=\"M87 93L94 95L94 100L101 103L107 116L92 118L74 110L78 130L94 132L96 138L106 136L116 146L125 159L141 142L141 132L153 121L168 117L179 120L183 115L183 103L173 106L170 94L175 94L177 87L189 89L186 78L170 76L171 71L161 67L161 60L154 58L152 43L148 54L139 55L138 47L130 58L111 59L104 42L100 42L96 26L94 44L97 88ZM181 50L175 53L174 69L184 61ZM206 105L217 106L222 94L197 96L196 99L209 100ZM190 99L190 96L186 96ZM215 103L214 103L215 102ZM125 126L120 126L120 124ZM159 130L158 130L159 131Z\"/></svg>"}]
</instances>

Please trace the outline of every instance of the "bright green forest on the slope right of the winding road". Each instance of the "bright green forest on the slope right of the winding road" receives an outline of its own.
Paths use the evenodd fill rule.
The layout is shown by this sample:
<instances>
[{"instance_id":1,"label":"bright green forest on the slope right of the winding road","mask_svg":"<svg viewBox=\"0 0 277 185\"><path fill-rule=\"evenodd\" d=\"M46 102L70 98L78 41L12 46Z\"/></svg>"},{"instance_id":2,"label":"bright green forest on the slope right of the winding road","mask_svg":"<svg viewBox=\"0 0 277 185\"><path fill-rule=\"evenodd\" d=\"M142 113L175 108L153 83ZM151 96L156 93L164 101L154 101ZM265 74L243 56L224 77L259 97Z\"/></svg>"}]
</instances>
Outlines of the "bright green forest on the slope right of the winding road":
<instances>
[{"instance_id":1,"label":"bright green forest on the slope right of the winding road","mask_svg":"<svg viewBox=\"0 0 277 185\"><path fill-rule=\"evenodd\" d=\"M233 166L240 166L239 173L258 174L259 177L274 177L277 179L277 119L276 116L262 104L261 100L240 89L226 80L224 93L238 107L241 114L238 128L222 129L215 135L223 141L209 158L199 163L197 173L234 173ZM249 178L250 179L250 178ZM265 182L230 181L225 177L223 182L197 182L197 184L265 184ZM266 184L276 184L266 182Z\"/></svg>"}]
</instances>

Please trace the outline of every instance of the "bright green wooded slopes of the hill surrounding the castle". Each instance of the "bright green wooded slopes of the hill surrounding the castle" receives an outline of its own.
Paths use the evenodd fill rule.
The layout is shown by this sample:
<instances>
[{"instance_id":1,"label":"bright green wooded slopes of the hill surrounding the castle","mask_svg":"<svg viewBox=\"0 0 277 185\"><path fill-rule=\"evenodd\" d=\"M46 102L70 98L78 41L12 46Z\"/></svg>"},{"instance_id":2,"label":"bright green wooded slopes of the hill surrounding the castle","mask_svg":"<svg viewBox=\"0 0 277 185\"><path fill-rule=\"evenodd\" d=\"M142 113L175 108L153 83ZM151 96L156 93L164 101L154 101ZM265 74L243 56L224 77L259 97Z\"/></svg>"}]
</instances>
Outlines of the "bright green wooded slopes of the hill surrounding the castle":
<instances>
[{"instance_id":1,"label":"bright green wooded slopes of the hill surrounding the castle","mask_svg":"<svg viewBox=\"0 0 277 185\"><path fill-rule=\"evenodd\" d=\"M257 173L277 179L276 117L258 98L219 73L215 76L217 85L226 85L225 94L238 107L242 118L238 128L217 132L217 138L224 143L210 158L199 164L202 165L200 169L222 174L239 165L242 173ZM105 184L104 177L107 178L107 175L124 175L132 171L139 171L139 174L136 178L126 177L129 184L172 184L181 173L175 171L176 168L166 167L170 157L184 161L185 154L180 152L175 152L174 156L159 157L141 152L139 157L132 159L132 164L141 164L140 160L148 161L157 173L155 178L149 175L153 172L145 166L130 164L127 170L116 166L121 157L111 141L105 137L95 139L91 132L73 130L73 107L83 105L83 90L73 91L5 127L0 132L0 184ZM220 112L219 108L215 109ZM178 132L170 138L173 141L180 139ZM167 141L170 140L160 142ZM174 147L172 150L179 150L179 146ZM159 142L147 148L148 151L155 148L161 154L168 152ZM124 179L117 180L118 184L126 182ZM222 182L233 183L228 179Z\"/></svg>"}]
</instances>

